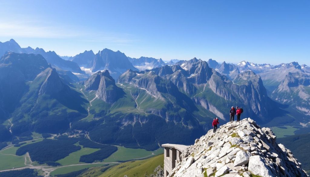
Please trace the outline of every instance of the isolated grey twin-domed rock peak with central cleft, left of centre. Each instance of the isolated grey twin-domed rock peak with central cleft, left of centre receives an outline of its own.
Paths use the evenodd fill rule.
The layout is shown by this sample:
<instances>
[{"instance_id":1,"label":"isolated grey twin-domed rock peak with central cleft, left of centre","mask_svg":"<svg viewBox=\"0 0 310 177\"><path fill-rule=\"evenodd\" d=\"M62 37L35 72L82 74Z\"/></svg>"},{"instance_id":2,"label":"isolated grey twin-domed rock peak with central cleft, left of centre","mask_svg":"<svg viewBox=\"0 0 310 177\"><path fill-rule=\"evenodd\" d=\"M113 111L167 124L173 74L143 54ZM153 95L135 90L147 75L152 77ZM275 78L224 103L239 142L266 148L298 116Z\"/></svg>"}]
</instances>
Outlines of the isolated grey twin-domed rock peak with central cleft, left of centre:
<instances>
[{"instance_id":1,"label":"isolated grey twin-domed rock peak with central cleft, left of centre","mask_svg":"<svg viewBox=\"0 0 310 177\"><path fill-rule=\"evenodd\" d=\"M107 103L114 103L124 94L122 89L115 85L115 80L110 76L108 70L92 75L85 82L85 87L86 91L95 90L96 96Z\"/></svg>"}]
</instances>

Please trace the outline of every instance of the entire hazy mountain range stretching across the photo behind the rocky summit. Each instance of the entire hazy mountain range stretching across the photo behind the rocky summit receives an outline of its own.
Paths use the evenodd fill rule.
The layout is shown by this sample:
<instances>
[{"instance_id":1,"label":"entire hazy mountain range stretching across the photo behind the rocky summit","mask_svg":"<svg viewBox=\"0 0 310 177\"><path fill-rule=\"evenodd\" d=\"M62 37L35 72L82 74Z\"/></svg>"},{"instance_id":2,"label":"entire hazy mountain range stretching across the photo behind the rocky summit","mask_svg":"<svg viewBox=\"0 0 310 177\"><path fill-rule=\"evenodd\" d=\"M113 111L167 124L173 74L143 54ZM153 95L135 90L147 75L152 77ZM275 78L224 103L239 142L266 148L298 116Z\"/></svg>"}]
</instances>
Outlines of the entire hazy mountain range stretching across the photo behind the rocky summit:
<instances>
[{"instance_id":1,"label":"entire hazy mountain range stretching across the photo behind the rocky summit","mask_svg":"<svg viewBox=\"0 0 310 177\"><path fill-rule=\"evenodd\" d=\"M0 120L11 119L3 129L11 136L79 131L99 143L153 150L189 144L214 117L228 122L231 106L270 126L310 121L309 69L297 62L165 63L109 49L64 60L14 40L0 51Z\"/></svg>"}]
</instances>

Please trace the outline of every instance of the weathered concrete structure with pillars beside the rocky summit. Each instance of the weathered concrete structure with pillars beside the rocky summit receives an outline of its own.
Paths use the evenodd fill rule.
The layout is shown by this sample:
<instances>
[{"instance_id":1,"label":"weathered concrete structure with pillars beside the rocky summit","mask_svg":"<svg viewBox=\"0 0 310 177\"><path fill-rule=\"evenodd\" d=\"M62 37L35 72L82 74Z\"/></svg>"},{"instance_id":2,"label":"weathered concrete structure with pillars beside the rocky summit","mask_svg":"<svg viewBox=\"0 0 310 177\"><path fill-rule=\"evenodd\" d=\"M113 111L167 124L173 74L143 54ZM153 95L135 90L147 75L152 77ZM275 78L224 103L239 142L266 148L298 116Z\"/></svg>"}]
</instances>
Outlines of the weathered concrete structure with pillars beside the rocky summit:
<instances>
[{"instance_id":1,"label":"weathered concrete structure with pillars beside the rocky summit","mask_svg":"<svg viewBox=\"0 0 310 177\"><path fill-rule=\"evenodd\" d=\"M175 168L175 165L182 161L180 155L188 146L181 144L162 144L162 147L165 148L164 176L167 177L171 174L171 171Z\"/></svg>"}]
</instances>

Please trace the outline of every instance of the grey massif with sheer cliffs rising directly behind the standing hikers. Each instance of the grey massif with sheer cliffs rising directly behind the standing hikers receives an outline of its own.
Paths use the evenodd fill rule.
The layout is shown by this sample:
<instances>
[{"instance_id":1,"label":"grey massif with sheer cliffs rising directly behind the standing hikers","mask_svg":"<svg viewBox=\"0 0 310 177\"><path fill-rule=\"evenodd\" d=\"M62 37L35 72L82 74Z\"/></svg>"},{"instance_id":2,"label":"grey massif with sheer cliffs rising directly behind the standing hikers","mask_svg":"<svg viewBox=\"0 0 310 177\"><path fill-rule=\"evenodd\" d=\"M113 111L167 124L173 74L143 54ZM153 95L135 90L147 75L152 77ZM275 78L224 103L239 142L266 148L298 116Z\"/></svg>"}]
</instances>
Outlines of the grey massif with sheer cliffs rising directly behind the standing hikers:
<instances>
[{"instance_id":1,"label":"grey massif with sheer cliffs rising directly behind the standing hikers","mask_svg":"<svg viewBox=\"0 0 310 177\"><path fill-rule=\"evenodd\" d=\"M216 95L242 106L251 117L267 119L274 105L267 95L261 78L252 71L240 73L233 82L215 73L208 81L208 85Z\"/></svg>"}]
</instances>

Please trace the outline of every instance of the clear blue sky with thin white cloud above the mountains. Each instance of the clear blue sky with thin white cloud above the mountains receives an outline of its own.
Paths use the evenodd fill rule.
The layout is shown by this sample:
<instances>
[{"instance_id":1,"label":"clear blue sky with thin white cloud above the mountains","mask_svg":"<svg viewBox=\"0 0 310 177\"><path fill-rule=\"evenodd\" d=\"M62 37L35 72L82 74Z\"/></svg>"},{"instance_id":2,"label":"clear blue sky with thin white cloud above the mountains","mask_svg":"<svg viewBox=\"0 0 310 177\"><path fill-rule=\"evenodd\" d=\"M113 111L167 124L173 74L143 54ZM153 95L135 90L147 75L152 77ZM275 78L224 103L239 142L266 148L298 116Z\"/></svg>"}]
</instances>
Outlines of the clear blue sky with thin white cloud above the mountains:
<instances>
[{"instance_id":1,"label":"clear blue sky with thin white cloud above the mountains","mask_svg":"<svg viewBox=\"0 0 310 177\"><path fill-rule=\"evenodd\" d=\"M309 0L0 1L0 41L59 55L310 65Z\"/></svg>"}]
</instances>

